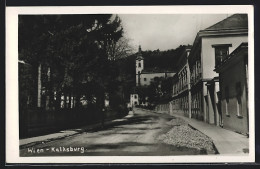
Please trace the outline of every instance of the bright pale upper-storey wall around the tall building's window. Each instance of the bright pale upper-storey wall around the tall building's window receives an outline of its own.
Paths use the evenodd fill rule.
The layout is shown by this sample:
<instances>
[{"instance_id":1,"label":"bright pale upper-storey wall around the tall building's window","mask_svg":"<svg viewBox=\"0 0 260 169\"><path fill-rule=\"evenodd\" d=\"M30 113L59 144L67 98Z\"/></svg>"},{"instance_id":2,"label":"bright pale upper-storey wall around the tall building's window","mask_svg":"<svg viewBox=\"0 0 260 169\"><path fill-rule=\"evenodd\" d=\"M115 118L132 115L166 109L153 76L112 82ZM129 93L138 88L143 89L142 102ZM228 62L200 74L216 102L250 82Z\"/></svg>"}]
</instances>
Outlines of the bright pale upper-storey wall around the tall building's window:
<instances>
[{"instance_id":1,"label":"bright pale upper-storey wall around the tall building's window","mask_svg":"<svg viewBox=\"0 0 260 169\"><path fill-rule=\"evenodd\" d=\"M202 78L213 78L218 76L215 68L215 49L214 44L232 44L229 48L229 53L233 52L242 42L248 42L247 36L232 36L232 37L202 37Z\"/></svg>"}]
</instances>

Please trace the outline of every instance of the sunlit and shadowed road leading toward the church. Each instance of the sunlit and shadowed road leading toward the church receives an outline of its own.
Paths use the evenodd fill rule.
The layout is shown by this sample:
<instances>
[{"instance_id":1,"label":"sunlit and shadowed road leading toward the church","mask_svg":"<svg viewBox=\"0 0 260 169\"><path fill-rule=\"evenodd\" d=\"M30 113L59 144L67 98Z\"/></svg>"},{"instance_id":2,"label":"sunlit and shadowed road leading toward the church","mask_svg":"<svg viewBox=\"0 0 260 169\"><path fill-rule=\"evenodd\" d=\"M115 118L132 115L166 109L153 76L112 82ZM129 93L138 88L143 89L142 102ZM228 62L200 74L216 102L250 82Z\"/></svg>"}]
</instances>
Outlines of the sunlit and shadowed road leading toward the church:
<instances>
[{"instance_id":1,"label":"sunlit and shadowed road leading toward the church","mask_svg":"<svg viewBox=\"0 0 260 169\"><path fill-rule=\"evenodd\" d=\"M84 132L60 140L20 150L21 156L131 156L190 155L194 150L179 149L156 138L170 130L166 124L173 117L140 109L123 124L103 130Z\"/></svg>"}]
</instances>

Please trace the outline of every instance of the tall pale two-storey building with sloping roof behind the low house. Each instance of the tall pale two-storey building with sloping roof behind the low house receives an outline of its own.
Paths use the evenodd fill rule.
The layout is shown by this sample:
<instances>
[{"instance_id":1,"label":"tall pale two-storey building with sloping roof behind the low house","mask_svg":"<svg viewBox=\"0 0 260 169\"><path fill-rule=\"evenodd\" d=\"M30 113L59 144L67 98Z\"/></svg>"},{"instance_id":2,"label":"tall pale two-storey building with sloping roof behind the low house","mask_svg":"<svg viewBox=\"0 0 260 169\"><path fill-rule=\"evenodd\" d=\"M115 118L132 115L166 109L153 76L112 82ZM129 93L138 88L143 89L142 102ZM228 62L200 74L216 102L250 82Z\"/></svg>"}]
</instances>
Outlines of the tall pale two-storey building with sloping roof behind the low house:
<instances>
[{"instance_id":1,"label":"tall pale two-storey building with sloping roof behind the low house","mask_svg":"<svg viewBox=\"0 0 260 169\"><path fill-rule=\"evenodd\" d=\"M248 42L248 16L235 14L201 30L188 57L191 73L191 117L210 124L222 125L219 110L218 73L215 63L242 42Z\"/></svg>"}]
</instances>

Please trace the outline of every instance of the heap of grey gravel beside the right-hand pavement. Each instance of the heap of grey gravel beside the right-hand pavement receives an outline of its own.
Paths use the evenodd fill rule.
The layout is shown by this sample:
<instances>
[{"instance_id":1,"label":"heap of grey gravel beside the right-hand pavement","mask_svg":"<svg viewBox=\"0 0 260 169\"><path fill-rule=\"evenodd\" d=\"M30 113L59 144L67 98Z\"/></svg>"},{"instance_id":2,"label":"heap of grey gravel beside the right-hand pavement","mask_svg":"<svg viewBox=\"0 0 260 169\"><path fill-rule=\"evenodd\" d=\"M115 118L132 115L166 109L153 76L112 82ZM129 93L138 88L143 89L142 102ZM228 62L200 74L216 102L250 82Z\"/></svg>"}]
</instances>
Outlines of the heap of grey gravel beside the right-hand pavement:
<instances>
[{"instance_id":1,"label":"heap of grey gravel beside the right-hand pavement","mask_svg":"<svg viewBox=\"0 0 260 169\"><path fill-rule=\"evenodd\" d=\"M160 141L176 147L194 148L207 153L215 153L212 140L187 125L175 126L168 133L158 137Z\"/></svg>"}]
</instances>

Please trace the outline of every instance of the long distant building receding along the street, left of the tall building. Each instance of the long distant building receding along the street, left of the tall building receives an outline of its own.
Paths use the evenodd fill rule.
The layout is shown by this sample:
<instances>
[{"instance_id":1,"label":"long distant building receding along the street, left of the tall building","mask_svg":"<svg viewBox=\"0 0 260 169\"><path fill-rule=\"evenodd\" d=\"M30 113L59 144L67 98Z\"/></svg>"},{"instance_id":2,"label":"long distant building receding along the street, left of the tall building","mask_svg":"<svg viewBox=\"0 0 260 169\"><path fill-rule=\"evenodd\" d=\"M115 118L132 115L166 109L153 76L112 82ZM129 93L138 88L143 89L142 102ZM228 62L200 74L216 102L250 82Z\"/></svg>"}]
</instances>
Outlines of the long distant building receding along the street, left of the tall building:
<instances>
[{"instance_id":1,"label":"long distant building receding along the street, left of the tall building","mask_svg":"<svg viewBox=\"0 0 260 169\"><path fill-rule=\"evenodd\" d=\"M177 73L173 76L173 93L170 114L182 113L191 117L190 68L188 56L191 46L186 46L177 61Z\"/></svg>"}]
</instances>

